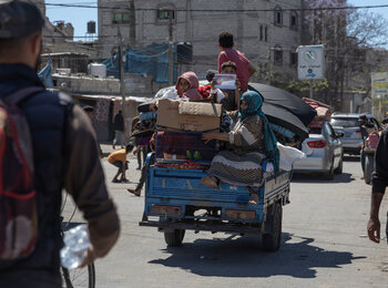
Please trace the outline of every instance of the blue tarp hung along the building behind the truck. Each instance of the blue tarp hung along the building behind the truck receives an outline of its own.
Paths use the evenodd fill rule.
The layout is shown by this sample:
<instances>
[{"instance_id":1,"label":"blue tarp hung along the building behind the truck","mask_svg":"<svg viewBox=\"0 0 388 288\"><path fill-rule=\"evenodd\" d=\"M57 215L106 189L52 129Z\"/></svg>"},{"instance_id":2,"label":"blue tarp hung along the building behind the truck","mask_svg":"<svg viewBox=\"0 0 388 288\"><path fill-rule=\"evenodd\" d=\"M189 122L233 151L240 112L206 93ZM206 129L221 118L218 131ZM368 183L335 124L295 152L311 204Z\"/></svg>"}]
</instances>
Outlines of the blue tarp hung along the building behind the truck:
<instances>
[{"instance_id":1,"label":"blue tarp hung along the building behind the truck","mask_svg":"<svg viewBox=\"0 0 388 288\"><path fill-rule=\"evenodd\" d=\"M141 75L151 75L155 82L169 82L169 44L152 43L144 48L129 48L123 51L125 56L124 72ZM176 45L174 44L174 59L176 59ZM177 78L176 61L174 61L174 82ZM106 75L119 78L119 59L115 54L112 59L102 62L106 65Z\"/></svg>"}]
</instances>

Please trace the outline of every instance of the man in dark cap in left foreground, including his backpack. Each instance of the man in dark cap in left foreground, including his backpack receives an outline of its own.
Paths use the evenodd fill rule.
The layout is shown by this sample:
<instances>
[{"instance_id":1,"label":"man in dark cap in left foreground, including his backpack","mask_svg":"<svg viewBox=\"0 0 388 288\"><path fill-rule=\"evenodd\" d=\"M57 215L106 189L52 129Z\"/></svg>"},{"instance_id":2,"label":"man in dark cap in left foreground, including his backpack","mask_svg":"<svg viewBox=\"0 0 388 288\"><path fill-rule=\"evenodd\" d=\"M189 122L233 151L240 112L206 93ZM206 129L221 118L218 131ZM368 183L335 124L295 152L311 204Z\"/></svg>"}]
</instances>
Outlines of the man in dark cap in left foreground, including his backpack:
<instances>
[{"instance_id":1,"label":"man in dark cap in left foreground, including his backpack","mask_svg":"<svg viewBox=\"0 0 388 288\"><path fill-rule=\"evenodd\" d=\"M37 75L44 24L31 1L0 0L0 287L62 287L62 188L89 224L82 265L120 233L90 120Z\"/></svg>"}]
</instances>

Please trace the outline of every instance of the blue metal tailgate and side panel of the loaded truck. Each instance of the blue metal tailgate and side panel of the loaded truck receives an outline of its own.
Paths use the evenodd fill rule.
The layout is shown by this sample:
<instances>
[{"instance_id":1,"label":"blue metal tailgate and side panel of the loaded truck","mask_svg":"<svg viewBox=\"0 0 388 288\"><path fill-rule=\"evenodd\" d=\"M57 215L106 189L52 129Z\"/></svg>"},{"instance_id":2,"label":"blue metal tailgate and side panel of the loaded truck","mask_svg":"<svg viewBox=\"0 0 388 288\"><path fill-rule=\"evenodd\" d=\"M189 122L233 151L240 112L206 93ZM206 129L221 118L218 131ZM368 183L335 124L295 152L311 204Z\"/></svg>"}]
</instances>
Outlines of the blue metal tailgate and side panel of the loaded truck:
<instances>
[{"instance_id":1,"label":"blue metal tailgate and side panel of the loaded truck","mask_svg":"<svg viewBox=\"0 0 388 288\"><path fill-rule=\"evenodd\" d=\"M216 208L218 217L207 216L207 220L222 219L231 223L262 224L268 205L288 199L289 174L280 173L266 176L258 191L258 205L249 205L249 191L247 187L221 183L217 189L208 188L201 182L207 176L202 169L173 169L165 167L150 167L145 187L145 208L143 219L149 216L160 216L172 220L200 220L201 217L187 214L188 208ZM174 208L176 213L164 215L155 213L154 207ZM229 212L242 214L253 212L254 218L231 218ZM157 225L155 225L157 226Z\"/></svg>"}]
</instances>

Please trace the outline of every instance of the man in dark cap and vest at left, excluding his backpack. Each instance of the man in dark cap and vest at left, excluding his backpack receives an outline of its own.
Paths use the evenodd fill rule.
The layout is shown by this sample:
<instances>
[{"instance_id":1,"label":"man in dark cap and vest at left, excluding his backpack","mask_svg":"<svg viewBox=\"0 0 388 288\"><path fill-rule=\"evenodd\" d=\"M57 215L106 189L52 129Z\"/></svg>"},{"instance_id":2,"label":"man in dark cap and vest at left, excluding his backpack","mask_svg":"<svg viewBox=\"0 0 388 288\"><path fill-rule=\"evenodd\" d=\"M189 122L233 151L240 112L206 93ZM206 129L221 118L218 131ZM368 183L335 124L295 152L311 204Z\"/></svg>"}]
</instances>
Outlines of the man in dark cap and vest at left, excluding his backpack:
<instances>
[{"instance_id":1,"label":"man in dark cap and vest at left, excluding his backpack","mask_svg":"<svg viewBox=\"0 0 388 288\"><path fill-rule=\"evenodd\" d=\"M40 10L32 1L11 0L0 1L0 99L8 102L24 95L18 107L31 134L38 225L31 254L13 263L0 259L0 287L60 288L62 188L89 224L91 246L82 266L113 247L120 233L119 216L108 194L90 120L70 96L47 91L38 78L45 25ZM12 172L1 173L3 181ZM3 240L6 227L0 228Z\"/></svg>"}]
</instances>

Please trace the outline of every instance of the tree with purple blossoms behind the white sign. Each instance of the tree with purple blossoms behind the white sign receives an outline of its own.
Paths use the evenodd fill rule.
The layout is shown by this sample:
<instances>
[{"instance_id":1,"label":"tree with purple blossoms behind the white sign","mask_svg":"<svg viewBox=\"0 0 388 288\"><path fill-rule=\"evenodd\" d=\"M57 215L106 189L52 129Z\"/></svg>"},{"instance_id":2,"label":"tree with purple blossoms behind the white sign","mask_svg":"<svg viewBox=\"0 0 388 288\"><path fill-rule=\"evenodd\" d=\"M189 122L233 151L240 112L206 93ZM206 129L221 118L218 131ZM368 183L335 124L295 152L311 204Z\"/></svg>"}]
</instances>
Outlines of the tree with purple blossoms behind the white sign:
<instances>
[{"instance_id":1,"label":"tree with purple blossoms behind the white sign","mask_svg":"<svg viewBox=\"0 0 388 288\"><path fill-rule=\"evenodd\" d=\"M388 44L388 21L368 9L330 9L349 7L346 0L307 0L306 23L310 44L325 45L325 75L314 81L314 92L320 101L344 109L345 92L370 92L370 73L386 70L388 59L384 48ZM309 92L308 81L295 80L295 74L272 73L265 78L273 85L295 94ZM308 95L308 94L307 94Z\"/></svg>"}]
</instances>

